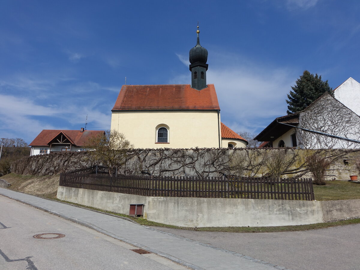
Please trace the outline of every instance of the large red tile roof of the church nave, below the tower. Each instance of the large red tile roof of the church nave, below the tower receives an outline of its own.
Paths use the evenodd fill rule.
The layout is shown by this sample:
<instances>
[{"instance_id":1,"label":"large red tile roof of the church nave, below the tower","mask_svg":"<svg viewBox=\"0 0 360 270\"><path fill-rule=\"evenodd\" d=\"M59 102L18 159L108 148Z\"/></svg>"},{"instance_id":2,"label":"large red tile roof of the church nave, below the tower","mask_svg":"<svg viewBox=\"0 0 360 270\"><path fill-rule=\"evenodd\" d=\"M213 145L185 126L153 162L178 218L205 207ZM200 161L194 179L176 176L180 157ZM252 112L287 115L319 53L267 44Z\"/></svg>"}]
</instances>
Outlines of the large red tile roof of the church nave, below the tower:
<instances>
[{"instance_id":1,"label":"large red tile roof of the church nave, below the tower","mask_svg":"<svg viewBox=\"0 0 360 270\"><path fill-rule=\"evenodd\" d=\"M113 111L220 110L213 84L196 90L189 84L123 85Z\"/></svg>"}]
</instances>

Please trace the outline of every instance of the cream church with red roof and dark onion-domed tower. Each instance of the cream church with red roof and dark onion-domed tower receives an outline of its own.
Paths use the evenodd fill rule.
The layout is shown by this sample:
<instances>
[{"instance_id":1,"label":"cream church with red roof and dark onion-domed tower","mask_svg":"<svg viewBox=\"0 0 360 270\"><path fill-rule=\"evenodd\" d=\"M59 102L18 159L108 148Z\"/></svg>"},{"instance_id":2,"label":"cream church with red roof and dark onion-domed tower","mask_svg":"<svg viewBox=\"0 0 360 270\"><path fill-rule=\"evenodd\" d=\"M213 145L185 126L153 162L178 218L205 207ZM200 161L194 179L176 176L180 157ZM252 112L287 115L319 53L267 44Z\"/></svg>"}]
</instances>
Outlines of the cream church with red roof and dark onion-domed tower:
<instances>
[{"instance_id":1,"label":"cream church with red roof and dark onion-domed tower","mask_svg":"<svg viewBox=\"0 0 360 270\"><path fill-rule=\"evenodd\" d=\"M220 119L215 86L206 83L208 51L189 52L191 85L123 85L112 109L111 130L135 148L234 148L248 142Z\"/></svg>"}]
</instances>

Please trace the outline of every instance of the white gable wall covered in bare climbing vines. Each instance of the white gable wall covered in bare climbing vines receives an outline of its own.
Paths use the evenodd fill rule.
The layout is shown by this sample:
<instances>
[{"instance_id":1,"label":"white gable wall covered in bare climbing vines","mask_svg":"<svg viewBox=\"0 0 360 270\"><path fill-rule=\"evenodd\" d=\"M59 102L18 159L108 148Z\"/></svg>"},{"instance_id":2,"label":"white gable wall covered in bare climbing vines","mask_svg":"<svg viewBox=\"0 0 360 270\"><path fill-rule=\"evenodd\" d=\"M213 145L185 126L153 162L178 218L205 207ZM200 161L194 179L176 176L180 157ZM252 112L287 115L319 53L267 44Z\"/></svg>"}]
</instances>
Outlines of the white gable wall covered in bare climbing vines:
<instances>
[{"instance_id":1,"label":"white gable wall covered in bare climbing vines","mask_svg":"<svg viewBox=\"0 0 360 270\"><path fill-rule=\"evenodd\" d=\"M347 139L360 140L360 117L325 94L300 113L300 126ZM297 129L299 144L307 149L360 148L359 143Z\"/></svg>"}]
</instances>

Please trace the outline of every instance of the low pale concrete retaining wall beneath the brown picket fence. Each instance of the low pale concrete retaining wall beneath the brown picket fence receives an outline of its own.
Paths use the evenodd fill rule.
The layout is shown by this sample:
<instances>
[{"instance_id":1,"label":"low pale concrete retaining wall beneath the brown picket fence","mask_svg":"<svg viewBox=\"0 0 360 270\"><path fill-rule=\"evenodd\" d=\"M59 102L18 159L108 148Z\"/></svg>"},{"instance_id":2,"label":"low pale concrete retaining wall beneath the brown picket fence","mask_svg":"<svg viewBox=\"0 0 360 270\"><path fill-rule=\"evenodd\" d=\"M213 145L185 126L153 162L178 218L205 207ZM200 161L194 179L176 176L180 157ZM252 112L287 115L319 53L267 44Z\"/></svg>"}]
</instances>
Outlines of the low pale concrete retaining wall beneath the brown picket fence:
<instances>
[{"instance_id":1,"label":"low pale concrete retaining wall beneath the brown picket fence","mask_svg":"<svg viewBox=\"0 0 360 270\"><path fill-rule=\"evenodd\" d=\"M288 201L146 197L91 189L58 187L57 198L129 214L129 204L145 204L144 218L184 227L285 226L360 216L360 199Z\"/></svg>"}]
</instances>

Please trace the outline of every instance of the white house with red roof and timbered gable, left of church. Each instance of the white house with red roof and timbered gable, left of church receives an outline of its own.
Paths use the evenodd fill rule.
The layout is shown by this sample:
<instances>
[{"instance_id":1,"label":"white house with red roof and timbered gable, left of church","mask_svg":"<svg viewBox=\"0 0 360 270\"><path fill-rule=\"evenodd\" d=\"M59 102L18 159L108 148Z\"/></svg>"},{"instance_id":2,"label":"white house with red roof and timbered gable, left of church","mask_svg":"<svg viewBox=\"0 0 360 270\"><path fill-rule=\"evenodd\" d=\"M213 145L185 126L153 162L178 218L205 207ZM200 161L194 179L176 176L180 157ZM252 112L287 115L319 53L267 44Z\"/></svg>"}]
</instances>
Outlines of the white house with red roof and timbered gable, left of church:
<instances>
[{"instance_id":1,"label":"white house with red roof and timbered gable, left of church","mask_svg":"<svg viewBox=\"0 0 360 270\"><path fill-rule=\"evenodd\" d=\"M101 136L104 130L53 130L44 129L29 144L31 146L30 156L38 154L49 154L50 152L83 151L86 142L94 136Z\"/></svg>"}]
</instances>

